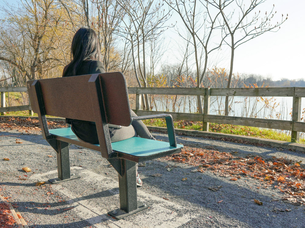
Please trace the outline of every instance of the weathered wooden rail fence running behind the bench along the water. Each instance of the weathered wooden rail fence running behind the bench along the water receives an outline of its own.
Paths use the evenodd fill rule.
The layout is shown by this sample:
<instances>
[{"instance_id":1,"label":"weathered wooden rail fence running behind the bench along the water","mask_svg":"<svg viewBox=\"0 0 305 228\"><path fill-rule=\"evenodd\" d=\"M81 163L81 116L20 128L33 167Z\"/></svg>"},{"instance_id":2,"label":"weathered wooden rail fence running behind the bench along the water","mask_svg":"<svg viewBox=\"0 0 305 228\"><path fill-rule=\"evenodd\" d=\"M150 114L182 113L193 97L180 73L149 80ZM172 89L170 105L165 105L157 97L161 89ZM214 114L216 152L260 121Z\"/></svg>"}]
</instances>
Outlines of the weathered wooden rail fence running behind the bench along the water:
<instances>
[{"instance_id":1,"label":"weathered wooden rail fence running behind the bench along the water","mask_svg":"<svg viewBox=\"0 0 305 228\"><path fill-rule=\"evenodd\" d=\"M33 115L31 106L5 107L5 92L26 92L27 87L0 87L1 108L0 112L29 110ZM281 87L281 88L139 88L129 87L129 94L136 94L135 112L138 116L160 114L159 111L141 110L142 94L155 95L201 95L203 99L203 114L166 112L174 119L201 121L203 122L203 131L209 130L209 123L224 123L232 125L253 126L261 128L271 128L278 130L291 131L291 141L299 141L300 132L305 132L305 123L301 122L301 98L305 97L305 88L303 87ZM210 97L211 96L253 96L253 97L293 97L292 120L260 119L238 116L219 116L210 115Z\"/></svg>"}]
</instances>

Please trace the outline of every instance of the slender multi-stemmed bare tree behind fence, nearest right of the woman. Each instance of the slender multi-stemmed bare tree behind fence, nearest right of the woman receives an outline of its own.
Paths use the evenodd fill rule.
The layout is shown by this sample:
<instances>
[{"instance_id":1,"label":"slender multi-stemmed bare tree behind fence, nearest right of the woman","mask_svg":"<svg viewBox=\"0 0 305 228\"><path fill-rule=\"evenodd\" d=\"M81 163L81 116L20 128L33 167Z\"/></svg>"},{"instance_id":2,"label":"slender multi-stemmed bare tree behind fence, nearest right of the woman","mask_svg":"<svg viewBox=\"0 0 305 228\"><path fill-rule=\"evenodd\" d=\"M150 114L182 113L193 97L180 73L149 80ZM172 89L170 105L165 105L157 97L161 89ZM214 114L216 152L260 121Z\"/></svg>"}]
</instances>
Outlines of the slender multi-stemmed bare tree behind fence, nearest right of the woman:
<instances>
[{"instance_id":1,"label":"slender multi-stemmed bare tree behind fence, nearest right of the woman","mask_svg":"<svg viewBox=\"0 0 305 228\"><path fill-rule=\"evenodd\" d=\"M138 71L142 77L143 87L147 87L147 73L146 73L146 49L147 41L154 40L156 36L162 33L165 22L170 17L169 11L165 9L160 10L163 4L160 0L149 0L142 2L141 0L118 1L120 6L124 9L126 16L121 16L123 27L120 31L122 36L128 37L131 42L132 56L134 62L134 70L139 86L141 82L138 78ZM135 50L136 47L136 50ZM136 56L135 56L136 54ZM137 57L137 60L136 60ZM148 95L145 95L145 109L149 110Z\"/></svg>"}]
</instances>

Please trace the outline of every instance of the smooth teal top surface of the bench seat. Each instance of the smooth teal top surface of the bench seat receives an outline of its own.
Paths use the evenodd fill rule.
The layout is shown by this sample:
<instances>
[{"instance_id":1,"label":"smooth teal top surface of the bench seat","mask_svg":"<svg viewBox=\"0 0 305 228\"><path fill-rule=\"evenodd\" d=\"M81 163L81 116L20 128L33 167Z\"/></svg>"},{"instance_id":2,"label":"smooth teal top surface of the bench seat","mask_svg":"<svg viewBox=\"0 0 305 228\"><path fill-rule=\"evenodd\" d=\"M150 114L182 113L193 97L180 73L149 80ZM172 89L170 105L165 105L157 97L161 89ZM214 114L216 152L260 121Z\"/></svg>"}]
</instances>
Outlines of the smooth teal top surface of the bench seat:
<instances>
[{"instance_id":1,"label":"smooth teal top surface of the bench seat","mask_svg":"<svg viewBox=\"0 0 305 228\"><path fill-rule=\"evenodd\" d=\"M51 129L49 132L53 135L79 141L70 127ZM99 146L99 144L95 144L95 146ZM141 157L183 147L181 144L177 144L177 147L171 147L167 142L144 139L140 137L132 137L122 141L114 142L111 143L111 146L113 150Z\"/></svg>"}]
</instances>

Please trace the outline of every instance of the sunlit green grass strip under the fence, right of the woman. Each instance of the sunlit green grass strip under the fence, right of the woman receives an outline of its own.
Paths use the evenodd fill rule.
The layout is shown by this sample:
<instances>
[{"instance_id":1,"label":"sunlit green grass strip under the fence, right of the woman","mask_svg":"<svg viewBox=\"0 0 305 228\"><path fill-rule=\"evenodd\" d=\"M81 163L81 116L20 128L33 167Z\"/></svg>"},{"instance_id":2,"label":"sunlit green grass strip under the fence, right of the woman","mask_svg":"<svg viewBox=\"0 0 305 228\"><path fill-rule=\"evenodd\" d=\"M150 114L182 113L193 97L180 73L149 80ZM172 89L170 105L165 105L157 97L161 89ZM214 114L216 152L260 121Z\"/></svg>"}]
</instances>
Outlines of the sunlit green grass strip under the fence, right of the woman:
<instances>
[{"instance_id":1,"label":"sunlit green grass strip under the fence, right of the woman","mask_svg":"<svg viewBox=\"0 0 305 228\"><path fill-rule=\"evenodd\" d=\"M149 119L143 120L145 125L166 127L165 119ZM187 120L174 120L175 128L187 130L202 130L202 122L187 121ZM272 129L262 129L258 127L237 126L230 124L217 124L210 123L210 132L225 133L232 135L245 135L265 139L273 139L290 142L291 136L283 132L278 132ZM299 143L305 144L305 139L300 139Z\"/></svg>"}]
</instances>

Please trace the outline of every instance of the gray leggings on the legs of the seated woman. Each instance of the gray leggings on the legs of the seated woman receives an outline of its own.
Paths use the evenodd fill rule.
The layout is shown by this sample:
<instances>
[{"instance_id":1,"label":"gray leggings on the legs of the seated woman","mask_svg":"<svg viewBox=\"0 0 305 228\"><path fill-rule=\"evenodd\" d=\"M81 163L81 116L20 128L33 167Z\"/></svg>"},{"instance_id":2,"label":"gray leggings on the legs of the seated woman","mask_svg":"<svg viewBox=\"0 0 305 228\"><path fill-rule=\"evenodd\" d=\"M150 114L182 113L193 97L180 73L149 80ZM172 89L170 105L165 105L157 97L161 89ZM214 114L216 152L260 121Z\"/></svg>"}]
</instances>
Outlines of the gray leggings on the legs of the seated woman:
<instances>
[{"instance_id":1,"label":"gray leggings on the legs of the seated woman","mask_svg":"<svg viewBox=\"0 0 305 228\"><path fill-rule=\"evenodd\" d=\"M137 116L134 111L130 111L131 116ZM149 130L141 120L133 121L128 127L122 126L122 128L117 129L114 135L110 138L110 140L113 143L136 136L140 136L141 138L145 139L155 140L155 138L149 133Z\"/></svg>"}]
</instances>

